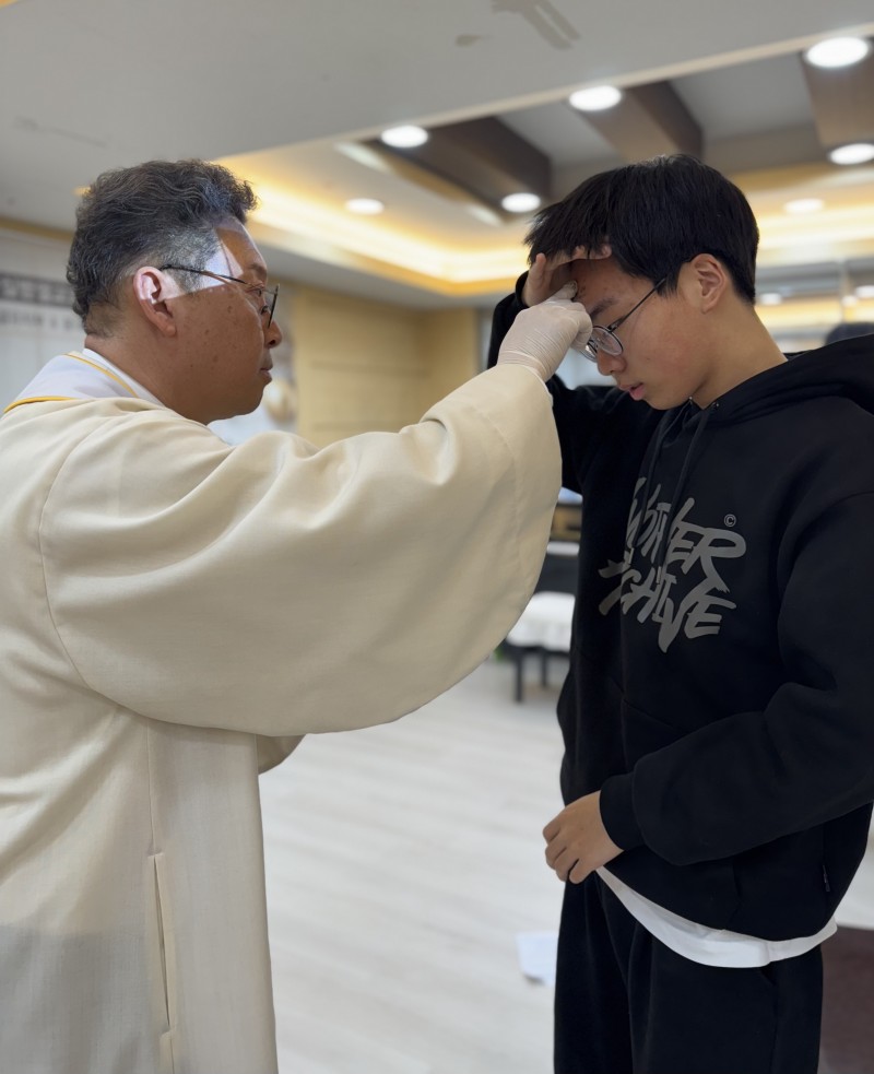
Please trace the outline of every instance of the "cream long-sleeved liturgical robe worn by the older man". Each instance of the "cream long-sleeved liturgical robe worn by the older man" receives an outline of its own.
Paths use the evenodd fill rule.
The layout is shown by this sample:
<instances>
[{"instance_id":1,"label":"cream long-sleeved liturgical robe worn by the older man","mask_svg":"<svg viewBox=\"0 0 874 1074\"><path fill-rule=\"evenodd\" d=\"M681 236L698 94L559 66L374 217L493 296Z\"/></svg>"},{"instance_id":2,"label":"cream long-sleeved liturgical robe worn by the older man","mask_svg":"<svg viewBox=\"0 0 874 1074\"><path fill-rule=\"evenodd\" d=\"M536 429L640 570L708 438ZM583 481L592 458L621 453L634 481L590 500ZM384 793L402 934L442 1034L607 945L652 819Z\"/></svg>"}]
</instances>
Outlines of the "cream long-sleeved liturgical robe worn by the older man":
<instances>
[{"instance_id":1,"label":"cream long-sleeved liturgical robe worn by the older man","mask_svg":"<svg viewBox=\"0 0 874 1074\"><path fill-rule=\"evenodd\" d=\"M232 448L101 363L0 421L0 1070L270 1074L258 772L506 635L550 398L498 367L399 434Z\"/></svg>"}]
</instances>

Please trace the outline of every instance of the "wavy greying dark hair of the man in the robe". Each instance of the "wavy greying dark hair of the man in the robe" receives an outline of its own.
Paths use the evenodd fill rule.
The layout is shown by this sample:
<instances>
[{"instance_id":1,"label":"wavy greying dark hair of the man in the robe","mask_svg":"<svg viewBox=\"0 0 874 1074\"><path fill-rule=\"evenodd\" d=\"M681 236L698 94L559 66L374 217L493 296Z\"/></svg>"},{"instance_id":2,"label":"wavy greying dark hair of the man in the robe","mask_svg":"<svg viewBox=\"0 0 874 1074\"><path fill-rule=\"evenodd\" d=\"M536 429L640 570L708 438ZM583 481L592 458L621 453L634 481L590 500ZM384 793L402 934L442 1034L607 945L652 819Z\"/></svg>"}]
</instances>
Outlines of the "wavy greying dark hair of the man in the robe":
<instances>
[{"instance_id":1,"label":"wavy greying dark hair of the man in the robe","mask_svg":"<svg viewBox=\"0 0 874 1074\"><path fill-rule=\"evenodd\" d=\"M122 281L143 264L202 269L218 247L215 228L246 223L251 187L206 161L149 161L105 172L76 210L67 262L73 312L102 334ZM96 309L95 309L96 307Z\"/></svg>"}]
</instances>

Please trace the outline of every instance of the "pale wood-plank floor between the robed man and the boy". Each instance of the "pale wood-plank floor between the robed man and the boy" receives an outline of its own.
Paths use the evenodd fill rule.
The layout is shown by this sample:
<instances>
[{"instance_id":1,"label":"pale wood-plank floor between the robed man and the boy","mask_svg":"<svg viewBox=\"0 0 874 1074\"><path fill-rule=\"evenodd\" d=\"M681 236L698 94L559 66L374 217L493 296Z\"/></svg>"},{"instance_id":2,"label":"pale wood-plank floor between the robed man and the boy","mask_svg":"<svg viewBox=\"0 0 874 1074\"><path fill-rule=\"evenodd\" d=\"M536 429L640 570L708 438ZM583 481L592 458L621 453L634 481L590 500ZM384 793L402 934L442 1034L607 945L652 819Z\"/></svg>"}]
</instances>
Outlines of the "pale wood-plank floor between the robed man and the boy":
<instances>
[{"instance_id":1,"label":"pale wood-plank floor between the robed man and the boy","mask_svg":"<svg viewBox=\"0 0 874 1074\"><path fill-rule=\"evenodd\" d=\"M560 809L555 686L491 660L399 723L314 735L262 777L282 1074L547 1074ZM532 663L532 674L536 669Z\"/></svg>"}]
</instances>

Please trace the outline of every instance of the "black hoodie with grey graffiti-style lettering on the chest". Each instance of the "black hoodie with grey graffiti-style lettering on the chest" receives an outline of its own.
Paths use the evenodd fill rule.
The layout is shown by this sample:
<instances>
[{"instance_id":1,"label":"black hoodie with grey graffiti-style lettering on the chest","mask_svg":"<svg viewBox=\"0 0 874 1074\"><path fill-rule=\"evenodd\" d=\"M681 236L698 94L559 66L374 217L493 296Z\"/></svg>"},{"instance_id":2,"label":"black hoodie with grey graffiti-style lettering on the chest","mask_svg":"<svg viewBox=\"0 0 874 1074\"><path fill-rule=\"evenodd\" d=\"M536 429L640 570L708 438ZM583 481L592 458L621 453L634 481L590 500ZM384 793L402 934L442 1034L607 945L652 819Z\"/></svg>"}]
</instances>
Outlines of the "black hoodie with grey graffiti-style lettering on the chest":
<instances>
[{"instance_id":1,"label":"black hoodie with grey graffiti-style lettering on the chest","mask_svg":"<svg viewBox=\"0 0 874 1074\"><path fill-rule=\"evenodd\" d=\"M601 790L607 869L653 902L812 935L874 799L874 337L705 410L550 387L582 495L564 799Z\"/></svg>"}]
</instances>

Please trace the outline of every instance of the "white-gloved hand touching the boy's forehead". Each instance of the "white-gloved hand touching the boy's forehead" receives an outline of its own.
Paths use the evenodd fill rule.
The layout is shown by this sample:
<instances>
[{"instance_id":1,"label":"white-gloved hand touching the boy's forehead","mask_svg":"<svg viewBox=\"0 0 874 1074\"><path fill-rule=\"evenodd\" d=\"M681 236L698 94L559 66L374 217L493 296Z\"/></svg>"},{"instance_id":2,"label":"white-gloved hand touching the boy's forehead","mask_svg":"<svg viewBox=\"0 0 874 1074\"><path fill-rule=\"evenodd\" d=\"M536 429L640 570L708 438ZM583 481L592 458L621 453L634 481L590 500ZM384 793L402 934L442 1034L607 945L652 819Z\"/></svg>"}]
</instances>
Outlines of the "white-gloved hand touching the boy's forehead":
<instances>
[{"instance_id":1,"label":"white-gloved hand touching the boy's forehead","mask_svg":"<svg viewBox=\"0 0 874 1074\"><path fill-rule=\"evenodd\" d=\"M577 285L569 281L552 298L517 315L498 351L498 365L525 365L548 380L574 347L581 351L592 334L586 307L572 302Z\"/></svg>"}]
</instances>

